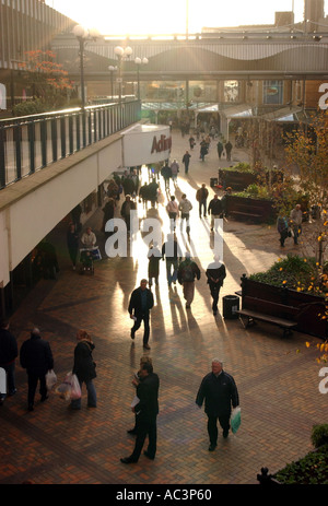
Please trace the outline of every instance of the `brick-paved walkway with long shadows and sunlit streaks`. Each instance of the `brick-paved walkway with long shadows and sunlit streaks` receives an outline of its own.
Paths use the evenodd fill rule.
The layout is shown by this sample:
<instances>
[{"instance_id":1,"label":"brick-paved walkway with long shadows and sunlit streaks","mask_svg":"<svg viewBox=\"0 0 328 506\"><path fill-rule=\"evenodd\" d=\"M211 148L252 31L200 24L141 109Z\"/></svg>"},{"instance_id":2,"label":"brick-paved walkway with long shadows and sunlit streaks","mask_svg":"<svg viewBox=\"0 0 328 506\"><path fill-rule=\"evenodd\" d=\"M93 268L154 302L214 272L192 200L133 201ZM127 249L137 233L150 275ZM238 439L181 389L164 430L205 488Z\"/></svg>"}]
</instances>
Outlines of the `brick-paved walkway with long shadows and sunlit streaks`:
<instances>
[{"instance_id":1,"label":"brick-paved walkway with long shadows and sunlit streaks","mask_svg":"<svg viewBox=\"0 0 328 506\"><path fill-rule=\"evenodd\" d=\"M187 149L187 137L175 132L173 157L180 162ZM209 222L198 217L195 193L197 186L209 186L210 177L216 177L219 165L214 148L203 163L198 148L191 154L189 175L181 170L175 192L178 198L186 192L195 204L190 250L202 275L190 310L185 308L179 285L168 292L164 262L160 286L153 291L149 353L161 378L156 459L141 456L130 466L119 460L133 447L133 437L127 434L133 423L131 379L143 349L141 330L131 342L127 305L131 291L147 275L147 248L139 238L133 258L104 257L95 264L94 276L81 276L69 266L63 222L52 233L60 260L58 279L37 284L13 315L12 329L21 345L34 325L40 328L50 342L59 379L71 370L77 329L87 329L96 345L98 405L87 409L83 390L82 410L72 412L51 392L49 400L40 404L37 399L34 411L27 412L26 374L17 364L17 393L0 409L0 484L26 480L36 484L253 484L262 466L274 472L312 449L312 426L327 422L327 399L318 390L316 352L304 345L309 338L295 332L283 340L279 329L265 323L245 330L238 320L223 318L222 305L218 316L212 315L204 270L212 260L213 244ZM245 160L245 153L235 151L233 158L233 163ZM167 219L163 205L160 209L166 233ZM141 216L141 205L139 212ZM103 248L101 220L98 211L91 224ZM179 231L178 237L186 240ZM289 250L292 245L286 245L284 254ZM227 278L221 301L239 289L243 273L263 271L280 256L274 226L224 223ZM236 435L219 438L210 454L207 417L195 397L213 357L221 358L236 380L243 422Z\"/></svg>"}]
</instances>

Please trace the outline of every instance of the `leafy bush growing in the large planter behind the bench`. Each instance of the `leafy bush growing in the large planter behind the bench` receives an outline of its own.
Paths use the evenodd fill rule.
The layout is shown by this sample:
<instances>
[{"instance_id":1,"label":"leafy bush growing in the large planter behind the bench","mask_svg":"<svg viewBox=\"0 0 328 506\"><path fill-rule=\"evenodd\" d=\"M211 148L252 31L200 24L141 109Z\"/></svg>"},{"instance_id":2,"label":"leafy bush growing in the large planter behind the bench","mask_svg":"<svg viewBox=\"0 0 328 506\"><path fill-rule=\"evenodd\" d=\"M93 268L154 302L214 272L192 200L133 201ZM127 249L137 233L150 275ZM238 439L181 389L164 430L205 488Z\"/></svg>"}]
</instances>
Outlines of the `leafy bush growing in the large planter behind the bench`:
<instances>
[{"instance_id":1,"label":"leafy bush growing in the large planter behind the bench","mask_svg":"<svg viewBox=\"0 0 328 506\"><path fill-rule=\"evenodd\" d=\"M274 262L268 271L251 274L249 279L313 294L318 284L316 259L289 254L286 258ZM316 295L323 294L316 291Z\"/></svg>"}]
</instances>

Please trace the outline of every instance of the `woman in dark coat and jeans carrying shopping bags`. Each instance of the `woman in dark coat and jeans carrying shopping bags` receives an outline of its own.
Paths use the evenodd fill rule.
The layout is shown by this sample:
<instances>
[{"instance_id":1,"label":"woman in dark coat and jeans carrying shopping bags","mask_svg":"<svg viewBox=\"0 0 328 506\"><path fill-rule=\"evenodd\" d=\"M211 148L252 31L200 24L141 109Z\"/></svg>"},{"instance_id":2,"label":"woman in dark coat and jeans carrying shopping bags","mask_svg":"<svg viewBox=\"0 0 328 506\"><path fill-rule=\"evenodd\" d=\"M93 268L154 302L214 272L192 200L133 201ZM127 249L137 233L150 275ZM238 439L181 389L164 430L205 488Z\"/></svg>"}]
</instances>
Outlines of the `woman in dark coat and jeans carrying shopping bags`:
<instances>
[{"instance_id":1,"label":"woman in dark coat and jeans carrying shopping bags","mask_svg":"<svg viewBox=\"0 0 328 506\"><path fill-rule=\"evenodd\" d=\"M78 344L74 350L74 366L72 373L78 376L80 387L85 383L87 390L87 407L96 408L97 396L93 385L93 379L96 377L95 363L93 362L92 352L95 348L91 337L85 330L79 330L77 333ZM71 401L71 408L74 410L81 409L81 398Z\"/></svg>"}]
</instances>

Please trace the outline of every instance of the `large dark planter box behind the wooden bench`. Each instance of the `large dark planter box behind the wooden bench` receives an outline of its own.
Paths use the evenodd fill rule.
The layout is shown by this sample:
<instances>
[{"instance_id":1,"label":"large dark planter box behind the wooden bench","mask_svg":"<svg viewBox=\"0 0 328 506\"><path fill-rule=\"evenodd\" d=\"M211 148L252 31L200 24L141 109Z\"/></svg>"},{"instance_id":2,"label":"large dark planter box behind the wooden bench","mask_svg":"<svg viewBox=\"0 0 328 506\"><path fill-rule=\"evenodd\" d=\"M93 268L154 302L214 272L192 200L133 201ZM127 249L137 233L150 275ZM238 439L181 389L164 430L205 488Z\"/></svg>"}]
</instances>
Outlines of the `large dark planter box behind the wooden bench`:
<instances>
[{"instance_id":1,"label":"large dark planter box behind the wooden bench","mask_svg":"<svg viewBox=\"0 0 328 506\"><path fill-rule=\"evenodd\" d=\"M243 297L246 295L297 307L300 314L295 330L327 340L328 322L326 319L323 320L319 317L320 314L325 313L326 305L324 297L253 281L244 274L242 278L242 307Z\"/></svg>"}]
</instances>

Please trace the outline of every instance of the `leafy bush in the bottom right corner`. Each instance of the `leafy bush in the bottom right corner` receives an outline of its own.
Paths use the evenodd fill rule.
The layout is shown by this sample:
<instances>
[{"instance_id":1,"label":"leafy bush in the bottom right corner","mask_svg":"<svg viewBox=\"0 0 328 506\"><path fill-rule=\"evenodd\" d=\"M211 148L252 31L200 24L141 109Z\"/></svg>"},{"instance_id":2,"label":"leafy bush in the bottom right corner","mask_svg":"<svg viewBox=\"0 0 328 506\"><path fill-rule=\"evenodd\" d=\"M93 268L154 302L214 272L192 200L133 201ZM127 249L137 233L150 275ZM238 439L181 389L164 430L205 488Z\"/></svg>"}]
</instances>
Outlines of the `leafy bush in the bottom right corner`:
<instances>
[{"instance_id":1,"label":"leafy bush in the bottom right corner","mask_svg":"<svg viewBox=\"0 0 328 506\"><path fill-rule=\"evenodd\" d=\"M283 485L328 485L328 445L289 463L274 474Z\"/></svg>"}]
</instances>

